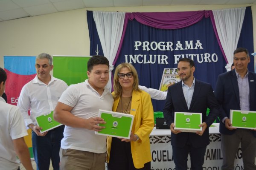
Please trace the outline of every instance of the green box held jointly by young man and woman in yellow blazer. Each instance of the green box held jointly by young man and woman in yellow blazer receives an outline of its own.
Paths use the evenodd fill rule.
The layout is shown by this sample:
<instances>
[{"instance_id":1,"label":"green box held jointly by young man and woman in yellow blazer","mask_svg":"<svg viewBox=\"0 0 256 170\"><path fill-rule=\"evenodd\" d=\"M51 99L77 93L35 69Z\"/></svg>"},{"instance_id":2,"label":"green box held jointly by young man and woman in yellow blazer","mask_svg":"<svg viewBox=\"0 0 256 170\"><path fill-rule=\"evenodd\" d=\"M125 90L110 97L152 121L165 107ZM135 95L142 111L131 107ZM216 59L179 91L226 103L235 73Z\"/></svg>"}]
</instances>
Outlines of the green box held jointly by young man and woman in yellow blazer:
<instances>
[{"instance_id":1,"label":"green box held jointly by young man and woman in yellow blazer","mask_svg":"<svg viewBox=\"0 0 256 170\"><path fill-rule=\"evenodd\" d=\"M105 128L100 132L95 132L95 134L130 139L133 115L100 109L99 117L104 119L106 124L99 124Z\"/></svg>"}]
</instances>

